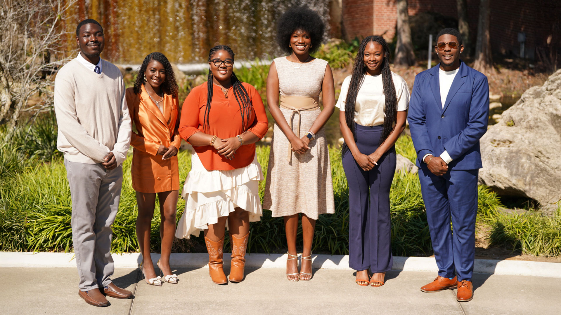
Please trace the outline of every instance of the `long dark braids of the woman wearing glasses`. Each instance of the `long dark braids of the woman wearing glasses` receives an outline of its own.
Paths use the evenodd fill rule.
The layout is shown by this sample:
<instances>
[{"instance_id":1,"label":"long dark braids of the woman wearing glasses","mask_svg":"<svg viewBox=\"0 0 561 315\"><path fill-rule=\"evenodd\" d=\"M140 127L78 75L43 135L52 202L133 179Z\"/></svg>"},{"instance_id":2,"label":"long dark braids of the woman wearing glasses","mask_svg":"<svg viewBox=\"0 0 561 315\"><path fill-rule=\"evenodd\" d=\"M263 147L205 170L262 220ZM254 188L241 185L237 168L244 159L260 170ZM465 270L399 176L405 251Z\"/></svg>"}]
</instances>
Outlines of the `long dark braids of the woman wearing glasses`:
<instances>
[{"instance_id":1,"label":"long dark braids of the woman wearing glasses","mask_svg":"<svg viewBox=\"0 0 561 315\"><path fill-rule=\"evenodd\" d=\"M234 52L232 51L232 48L229 48L226 45L217 45L214 46L213 48L210 48L209 50L209 62L212 59L214 53L218 52L219 50L226 50L226 52L232 56L232 59L234 59ZM242 82L238 80L238 77L236 77L233 71L232 71L231 80L232 80L232 90L234 91L234 96L236 96L236 101L238 102L238 105L240 105L240 114L242 117L242 129L245 131L248 128L248 126L251 125L250 119L253 113L253 104L251 103L249 94L247 94L247 91L245 87L243 87ZM212 103L212 95L213 95L213 75L210 67L209 67L209 76L208 76L208 81L206 83L206 87L208 89L208 94L206 95L206 108L204 114L203 128L205 129L205 131L208 131L210 129L209 114L210 114L210 105Z\"/></svg>"}]
</instances>

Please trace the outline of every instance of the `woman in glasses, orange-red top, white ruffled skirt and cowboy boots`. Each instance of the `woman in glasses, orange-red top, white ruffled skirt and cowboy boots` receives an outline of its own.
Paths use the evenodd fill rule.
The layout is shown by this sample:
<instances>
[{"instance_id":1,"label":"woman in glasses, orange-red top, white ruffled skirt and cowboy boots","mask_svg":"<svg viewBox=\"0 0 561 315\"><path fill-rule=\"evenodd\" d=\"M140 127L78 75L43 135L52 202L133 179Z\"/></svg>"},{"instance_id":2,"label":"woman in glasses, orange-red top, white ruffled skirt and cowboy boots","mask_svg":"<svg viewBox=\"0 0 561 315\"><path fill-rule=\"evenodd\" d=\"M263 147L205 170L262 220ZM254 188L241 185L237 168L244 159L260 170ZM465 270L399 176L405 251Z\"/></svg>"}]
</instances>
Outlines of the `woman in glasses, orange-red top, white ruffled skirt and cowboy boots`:
<instances>
[{"instance_id":1,"label":"woman in glasses, orange-red top, white ruffled skirt and cowboy boots","mask_svg":"<svg viewBox=\"0 0 561 315\"><path fill-rule=\"evenodd\" d=\"M180 135L196 153L183 187L185 212L176 237L189 238L204 230L210 277L216 284L226 284L222 269L226 223L232 244L229 280L240 282L249 223L263 214L259 199L263 173L255 142L267 132L268 121L255 87L234 75L231 48L210 49L209 64L208 82L191 90L181 113Z\"/></svg>"}]
</instances>

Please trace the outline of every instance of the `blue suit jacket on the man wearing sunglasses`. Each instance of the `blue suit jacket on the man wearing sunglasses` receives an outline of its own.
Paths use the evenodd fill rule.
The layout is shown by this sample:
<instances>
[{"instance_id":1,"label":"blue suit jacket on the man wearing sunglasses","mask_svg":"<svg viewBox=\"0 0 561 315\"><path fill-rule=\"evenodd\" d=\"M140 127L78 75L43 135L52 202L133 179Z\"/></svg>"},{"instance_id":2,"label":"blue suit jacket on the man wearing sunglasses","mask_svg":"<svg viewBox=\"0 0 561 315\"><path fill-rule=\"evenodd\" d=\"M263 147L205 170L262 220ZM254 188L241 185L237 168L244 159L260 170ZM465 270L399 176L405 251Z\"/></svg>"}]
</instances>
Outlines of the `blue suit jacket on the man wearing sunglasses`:
<instances>
[{"instance_id":1,"label":"blue suit jacket on the man wearing sunglasses","mask_svg":"<svg viewBox=\"0 0 561 315\"><path fill-rule=\"evenodd\" d=\"M446 150L452 158L449 170L480 169L479 139L487 131L489 85L487 77L460 61L442 108L440 64L415 77L407 120L420 168L423 156L439 156Z\"/></svg>"}]
</instances>

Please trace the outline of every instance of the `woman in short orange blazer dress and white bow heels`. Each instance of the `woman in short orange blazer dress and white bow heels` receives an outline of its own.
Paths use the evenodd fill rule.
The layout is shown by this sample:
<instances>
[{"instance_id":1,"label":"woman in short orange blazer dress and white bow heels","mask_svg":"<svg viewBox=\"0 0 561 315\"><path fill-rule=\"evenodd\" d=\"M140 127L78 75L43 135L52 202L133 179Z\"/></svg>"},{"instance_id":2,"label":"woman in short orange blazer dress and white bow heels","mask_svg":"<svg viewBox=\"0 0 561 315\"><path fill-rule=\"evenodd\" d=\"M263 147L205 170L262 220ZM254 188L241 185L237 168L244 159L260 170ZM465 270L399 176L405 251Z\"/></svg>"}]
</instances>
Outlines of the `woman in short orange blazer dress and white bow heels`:
<instances>
[{"instance_id":1,"label":"woman in short orange blazer dress and white bow heels","mask_svg":"<svg viewBox=\"0 0 561 315\"><path fill-rule=\"evenodd\" d=\"M139 214L136 217L142 263L140 269L151 285L162 285L150 259L150 225L154 216L156 194L160 201L160 235L162 257L158 268L164 281L177 284L177 275L171 273L169 254L176 228L179 190L177 149L181 137L177 131L177 83L171 64L162 53L151 53L144 58L134 87L126 90L128 110L136 132L132 132L132 188L136 191Z\"/></svg>"}]
</instances>

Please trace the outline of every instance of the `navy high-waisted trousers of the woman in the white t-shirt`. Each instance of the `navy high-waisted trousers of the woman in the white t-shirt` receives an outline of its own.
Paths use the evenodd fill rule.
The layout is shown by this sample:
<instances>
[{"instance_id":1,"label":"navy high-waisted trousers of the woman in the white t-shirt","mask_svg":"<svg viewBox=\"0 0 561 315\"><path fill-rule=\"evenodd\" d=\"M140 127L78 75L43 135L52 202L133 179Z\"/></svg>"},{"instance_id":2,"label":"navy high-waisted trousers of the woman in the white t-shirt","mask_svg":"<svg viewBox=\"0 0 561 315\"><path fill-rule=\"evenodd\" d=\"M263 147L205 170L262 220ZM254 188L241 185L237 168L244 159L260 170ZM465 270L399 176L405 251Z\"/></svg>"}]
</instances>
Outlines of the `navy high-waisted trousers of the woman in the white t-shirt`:
<instances>
[{"instance_id":1,"label":"navy high-waisted trousers of the woman in the white t-shirt","mask_svg":"<svg viewBox=\"0 0 561 315\"><path fill-rule=\"evenodd\" d=\"M362 154L378 149L382 126L356 127ZM343 156L349 186L349 267L372 272L392 270L389 189L396 172L396 148L388 150L369 171L358 166L351 152Z\"/></svg>"}]
</instances>

